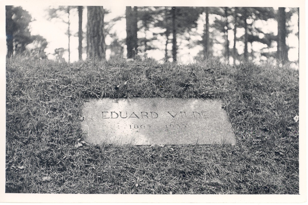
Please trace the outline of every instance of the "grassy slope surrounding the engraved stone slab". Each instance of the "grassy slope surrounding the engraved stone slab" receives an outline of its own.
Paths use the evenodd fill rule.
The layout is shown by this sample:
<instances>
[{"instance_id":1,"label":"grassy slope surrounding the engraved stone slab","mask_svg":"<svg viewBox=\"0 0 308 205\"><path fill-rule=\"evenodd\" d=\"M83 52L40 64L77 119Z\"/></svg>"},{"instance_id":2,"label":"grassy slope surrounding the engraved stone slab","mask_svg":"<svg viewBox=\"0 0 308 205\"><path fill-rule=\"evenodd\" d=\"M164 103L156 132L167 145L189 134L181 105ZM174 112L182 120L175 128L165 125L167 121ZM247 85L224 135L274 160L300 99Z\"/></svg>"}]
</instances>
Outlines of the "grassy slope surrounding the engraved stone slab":
<instances>
[{"instance_id":1,"label":"grassy slope surrounding the engraved stone slab","mask_svg":"<svg viewBox=\"0 0 308 205\"><path fill-rule=\"evenodd\" d=\"M249 62L7 59L6 193L298 194L298 78ZM88 144L83 99L103 97L221 99L237 143Z\"/></svg>"}]
</instances>

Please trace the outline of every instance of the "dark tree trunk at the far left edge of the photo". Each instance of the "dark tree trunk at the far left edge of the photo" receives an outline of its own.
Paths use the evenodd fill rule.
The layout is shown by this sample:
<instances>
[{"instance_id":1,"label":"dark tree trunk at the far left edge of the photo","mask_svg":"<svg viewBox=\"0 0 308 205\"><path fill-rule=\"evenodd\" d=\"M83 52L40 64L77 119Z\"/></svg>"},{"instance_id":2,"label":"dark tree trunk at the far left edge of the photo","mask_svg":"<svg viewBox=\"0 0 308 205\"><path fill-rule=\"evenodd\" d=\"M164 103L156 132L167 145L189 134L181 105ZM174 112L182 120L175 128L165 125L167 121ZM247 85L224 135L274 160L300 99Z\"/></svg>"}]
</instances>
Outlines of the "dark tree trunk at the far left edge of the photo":
<instances>
[{"instance_id":1,"label":"dark tree trunk at the far left edge of the photo","mask_svg":"<svg viewBox=\"0 0 308 205\"><path fill-rule=\"evenodd\" d=\"M13 47L13 6L5 6L6 13L6 45L7 45L7 54L6 56L10 58L13 55L14 47Z\"/></svg>"}]
</instances>

